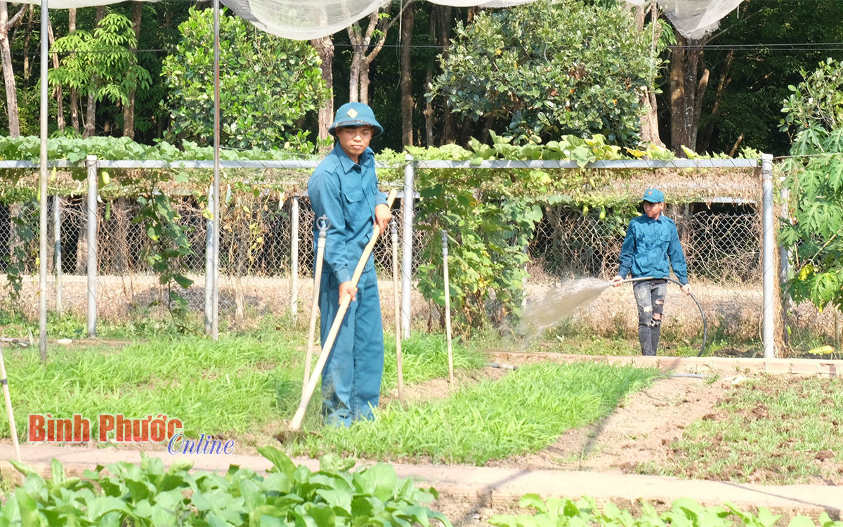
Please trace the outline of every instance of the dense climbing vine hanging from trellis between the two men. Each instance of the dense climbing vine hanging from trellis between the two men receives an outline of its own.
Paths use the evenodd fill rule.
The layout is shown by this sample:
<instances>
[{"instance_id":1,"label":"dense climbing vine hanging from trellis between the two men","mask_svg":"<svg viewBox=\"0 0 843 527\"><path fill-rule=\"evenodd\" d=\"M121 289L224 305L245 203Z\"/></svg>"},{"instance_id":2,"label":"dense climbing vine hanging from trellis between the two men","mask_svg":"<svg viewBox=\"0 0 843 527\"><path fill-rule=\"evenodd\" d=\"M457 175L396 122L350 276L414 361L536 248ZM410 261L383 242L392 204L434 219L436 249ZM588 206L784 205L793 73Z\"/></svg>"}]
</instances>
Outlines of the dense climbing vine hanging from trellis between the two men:
<instances>
[{"instance_id":1,"label":"dense climbing vine hanging from trellis between the two men","mask_svg":"<svg viewBox=\"0 0 843 527\"><path fill-rule=\"evenodd\" d=\"M484 147L472 139L474 154L457 145L409 149L416 159L470 158L475 162L481 161L479 156L494 158L499 152L513 153L510 148L519 151L509 144L510 139L494 138L500 148ZM520 192L549 178L538 171L522 171L516 176L491 169L422 170L417 177L421 200L416 206L416 219L426 234L422 251L427 262L418 270L421 294L444 305L441 232L445 230L448 291L456 314L456 331L467 334L490 321L500 324L521 304L524 265L529 260L526 248L542 216L540 207Z\"/></svg>"}]
</instances>

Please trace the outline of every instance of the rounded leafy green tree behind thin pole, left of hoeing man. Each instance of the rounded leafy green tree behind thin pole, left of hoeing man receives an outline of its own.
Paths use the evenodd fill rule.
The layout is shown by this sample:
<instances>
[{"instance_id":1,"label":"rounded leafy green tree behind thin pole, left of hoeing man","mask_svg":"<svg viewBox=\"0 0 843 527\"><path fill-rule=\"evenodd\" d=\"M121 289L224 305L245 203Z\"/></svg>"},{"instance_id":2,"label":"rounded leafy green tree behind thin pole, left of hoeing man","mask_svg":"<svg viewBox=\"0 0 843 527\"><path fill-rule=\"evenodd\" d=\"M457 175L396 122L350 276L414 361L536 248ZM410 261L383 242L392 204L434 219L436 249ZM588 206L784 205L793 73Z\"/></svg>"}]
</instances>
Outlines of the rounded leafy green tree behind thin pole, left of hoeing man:
<instances>
[{"instance_id":1,"label":"rounded leafy green tree behind thin pole, left of hoeing man","mask_svg":"<svg viewBox=\"0 0 843 527\"><path fill-rule=\"evenodd\" d=\"M213 137L213 13L191 8L176 52L164 59L170 139L207 144ZM221 143L233 148L302 145L297 129L318 110L327 88L307 42L267 35L236 16L220 20ZM287 144L288 143L288 144Z\"/></svg>"}]
</instances>

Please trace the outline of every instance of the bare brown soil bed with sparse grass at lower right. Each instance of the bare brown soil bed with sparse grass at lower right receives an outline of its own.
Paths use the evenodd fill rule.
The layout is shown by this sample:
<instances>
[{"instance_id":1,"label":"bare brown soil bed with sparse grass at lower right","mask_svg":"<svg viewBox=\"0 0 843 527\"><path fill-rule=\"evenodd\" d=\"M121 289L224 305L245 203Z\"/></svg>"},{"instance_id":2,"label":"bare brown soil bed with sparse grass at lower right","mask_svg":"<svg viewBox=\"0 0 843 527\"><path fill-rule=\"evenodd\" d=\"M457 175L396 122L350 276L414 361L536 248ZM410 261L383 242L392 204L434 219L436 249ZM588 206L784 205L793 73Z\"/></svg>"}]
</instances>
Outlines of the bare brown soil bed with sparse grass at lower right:
<instances>
[{"instance_id":1,"label":"bare brown soil bed with sparse grass at lower right","mask_svg":"<svg viewBox=\"0 0 843 527\"><path fill-rule=\"evenodd\" d=\"M492 466L843 484L841 379L660 379L539 453Z\"/></svg>"}]
</instances>

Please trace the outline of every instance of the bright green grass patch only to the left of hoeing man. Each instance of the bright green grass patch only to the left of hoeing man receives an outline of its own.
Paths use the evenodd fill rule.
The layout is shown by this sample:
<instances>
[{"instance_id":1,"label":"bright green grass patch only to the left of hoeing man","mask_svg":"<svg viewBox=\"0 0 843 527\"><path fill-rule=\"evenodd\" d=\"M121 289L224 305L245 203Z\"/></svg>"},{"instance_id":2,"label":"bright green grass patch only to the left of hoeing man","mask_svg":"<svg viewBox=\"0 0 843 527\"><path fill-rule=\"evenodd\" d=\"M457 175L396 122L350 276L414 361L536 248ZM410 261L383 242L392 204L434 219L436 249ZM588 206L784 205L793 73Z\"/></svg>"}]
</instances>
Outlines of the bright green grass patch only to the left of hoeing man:
<instances>
[{"instance_id":1,"label":"bright green grass patch only to the left of hoeing man","mask_svg":"<svg viewBox=\"0 0 843 527\"><path fill-rule=\"evenodd\" d=\"M193 433L227 434L277 418L277 381L294 384L296 355L291 347L250 338L180 338L122 349L56 347L46 366L37 350L18 351L7 355L7 368L18 416L81 413L95 434L100 413L162 412ZM298 386L300 393L301 380ZM8 437L7 423L0 423L0 434Z\"/></svg>"}]
</instances>

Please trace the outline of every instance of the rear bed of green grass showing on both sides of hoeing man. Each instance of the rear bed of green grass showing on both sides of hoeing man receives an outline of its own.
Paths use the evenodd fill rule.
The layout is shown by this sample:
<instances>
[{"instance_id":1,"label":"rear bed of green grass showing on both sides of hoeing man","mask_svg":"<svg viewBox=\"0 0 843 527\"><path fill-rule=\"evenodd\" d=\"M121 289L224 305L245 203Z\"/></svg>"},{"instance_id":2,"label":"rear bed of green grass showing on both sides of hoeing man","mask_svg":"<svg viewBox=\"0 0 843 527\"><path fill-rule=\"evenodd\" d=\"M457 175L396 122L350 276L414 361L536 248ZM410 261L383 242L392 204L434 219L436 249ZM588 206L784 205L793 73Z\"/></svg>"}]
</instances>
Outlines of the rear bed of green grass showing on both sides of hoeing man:
<instances>
[{"instance_id":1,"label":"rear bed of green grass showing on both sides of hoeing man","mask_svg":"<svg viewBox=\"0 0 843 527\"><path fill-rule=\"evenodd\" d=\"M51 413L91 420L96 435L100 413L142 418L165 413L185 423L188 435L212 433L259 441L255 433L278 428L293 417L302 393L304 337L265 329L253 336L177 337L137 342L127 347L51 347L42 365L37 349L5 351L9 389L26 437L26 415ZM396 384L395 339L387 338L382 390ZM407 384L447 375L444 339L416 335L404 342ZM454 347L454 367L481 368L486 357L474 349ZM315 361L314 361L315 364ZM319 394L305 421L321 426ZM266 434L265 434L266 435ZM9 437L0 420L0 437ZM264 437L266 440L267 438Z\"/></svg>"}]
</instances>

